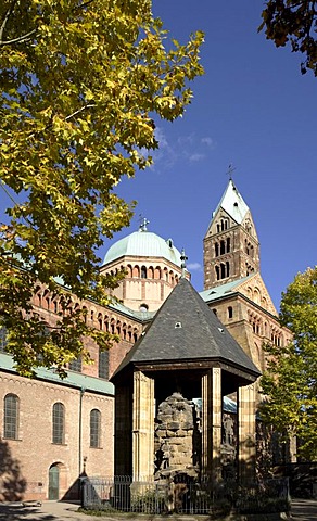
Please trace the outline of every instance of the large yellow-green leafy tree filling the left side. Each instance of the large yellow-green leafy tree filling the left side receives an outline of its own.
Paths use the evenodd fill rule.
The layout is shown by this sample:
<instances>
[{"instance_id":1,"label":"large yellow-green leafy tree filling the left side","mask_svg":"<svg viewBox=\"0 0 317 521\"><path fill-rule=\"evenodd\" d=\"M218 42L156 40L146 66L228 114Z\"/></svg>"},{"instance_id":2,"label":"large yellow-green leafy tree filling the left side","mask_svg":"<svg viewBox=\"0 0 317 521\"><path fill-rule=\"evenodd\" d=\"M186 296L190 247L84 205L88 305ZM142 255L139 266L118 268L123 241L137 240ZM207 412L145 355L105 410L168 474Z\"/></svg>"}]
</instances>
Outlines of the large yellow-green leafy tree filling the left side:
<instances>
[{"instance_id":1,"label":"large yellow-green leafy tree filling the left side","mask_svg":"<svg viewBox=\"0 0 317 521\"><path fill-rule=\"evenodd\" d=\"M13 204L0 227L0 327L22 374L52 365L63 374L86 335L104 350L113 340L86 325L71 294L109 303L117 279L100 275L96 252L132 215L114 189L151 164L153 117L181 116L188 81L203 73L202 33L166 50L151 5L1 2L0 182ZM53 327L34 314L38 283L59 301Z\"/></svg>"}]
</instances>

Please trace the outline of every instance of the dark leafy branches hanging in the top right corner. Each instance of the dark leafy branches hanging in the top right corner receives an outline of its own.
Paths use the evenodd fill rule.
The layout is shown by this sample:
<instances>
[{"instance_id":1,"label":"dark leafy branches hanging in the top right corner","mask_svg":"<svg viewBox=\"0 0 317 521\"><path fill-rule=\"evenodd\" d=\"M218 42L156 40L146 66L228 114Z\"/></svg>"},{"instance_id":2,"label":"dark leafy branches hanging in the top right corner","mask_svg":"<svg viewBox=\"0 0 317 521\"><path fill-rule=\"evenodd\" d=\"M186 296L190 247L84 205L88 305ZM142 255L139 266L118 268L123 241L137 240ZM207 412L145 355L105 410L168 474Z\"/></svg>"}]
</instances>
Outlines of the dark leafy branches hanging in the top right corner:
<instances>
[{"instance_id":1,"label":"dark leafy branches hanging in the top right corner","mask_svg":"<svg viewBox=\"0 0 317 521\"><path fill-rule=\"evenodd\" d=\"M302 74L312 69L317 76L317 9L316 2L307 0L268 0L262 13L267 39L277 47L290 41L293 52L305 55Z\"/></svg>"}]
</instances>

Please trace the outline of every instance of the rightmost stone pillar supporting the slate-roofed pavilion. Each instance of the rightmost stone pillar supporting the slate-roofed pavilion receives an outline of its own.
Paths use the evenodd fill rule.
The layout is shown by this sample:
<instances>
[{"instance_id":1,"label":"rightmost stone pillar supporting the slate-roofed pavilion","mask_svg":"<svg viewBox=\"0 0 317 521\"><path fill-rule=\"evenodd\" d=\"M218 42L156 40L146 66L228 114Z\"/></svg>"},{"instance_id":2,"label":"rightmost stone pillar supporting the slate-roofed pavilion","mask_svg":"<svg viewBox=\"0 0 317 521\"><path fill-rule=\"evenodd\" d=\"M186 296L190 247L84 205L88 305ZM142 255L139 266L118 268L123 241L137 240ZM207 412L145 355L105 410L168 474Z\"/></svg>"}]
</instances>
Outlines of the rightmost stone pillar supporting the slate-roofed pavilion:
<instances>
[{"instance_id":1,"label":"rightmost stone pillar supporting the slate-roofed pavilion","mask_svg":"<svg viewBox=\"0 0 317 521\"><path fill-rule=\"evenodd\" d=\"M248 486L255 480L255 385L239 387L238 399L239 481Z\"/></svg>"}]
</instances>

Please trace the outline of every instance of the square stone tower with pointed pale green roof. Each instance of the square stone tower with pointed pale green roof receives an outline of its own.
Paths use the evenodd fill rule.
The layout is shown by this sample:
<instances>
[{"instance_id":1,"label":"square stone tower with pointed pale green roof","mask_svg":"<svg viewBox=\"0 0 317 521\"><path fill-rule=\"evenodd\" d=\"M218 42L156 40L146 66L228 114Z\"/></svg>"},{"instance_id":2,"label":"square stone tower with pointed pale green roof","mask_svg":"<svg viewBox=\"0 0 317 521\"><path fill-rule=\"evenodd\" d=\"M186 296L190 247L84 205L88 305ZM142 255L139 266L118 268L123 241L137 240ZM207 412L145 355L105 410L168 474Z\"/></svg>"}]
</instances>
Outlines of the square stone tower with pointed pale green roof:
<instances>
[{"instance_id":1,"label":"square stone tower with pointed pale green roof","mask_svg":"<svg viewBox=\"0 0 317 521\"><path fill-rule=\"evenodd\" d=\"M229 179L204 238L204 289L259 271L259 242L251 212Z\"/></svg>"}]
</instances>

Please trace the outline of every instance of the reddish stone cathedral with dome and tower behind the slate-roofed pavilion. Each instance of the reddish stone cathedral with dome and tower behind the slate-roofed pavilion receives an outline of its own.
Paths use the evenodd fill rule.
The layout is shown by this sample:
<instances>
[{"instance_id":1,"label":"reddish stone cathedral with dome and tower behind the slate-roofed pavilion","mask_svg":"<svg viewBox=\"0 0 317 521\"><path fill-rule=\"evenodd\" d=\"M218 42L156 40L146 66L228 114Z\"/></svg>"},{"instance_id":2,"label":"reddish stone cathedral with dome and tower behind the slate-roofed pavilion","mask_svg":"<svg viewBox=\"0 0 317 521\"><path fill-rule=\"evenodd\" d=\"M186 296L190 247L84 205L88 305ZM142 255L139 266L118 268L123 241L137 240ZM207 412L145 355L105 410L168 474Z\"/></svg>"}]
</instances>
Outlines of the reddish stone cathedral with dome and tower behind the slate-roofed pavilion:
<instances>
[{"instance_id":1,"label":"reddish stone cathedral with dome and tower behind the slate-roofed pavilion","mask_svg":"<svg viewBox=\"0 0 317 521\"><path fill-rule=\"evenodd\" d=\"M237 396L239 411L244 410L243 396L246 396L250 383L253 384L252 399L255 405L259 403L258 376L266 368L263 344L271 342L282 346L291 336L287 329L279 326L278 313L261 277L259 241L255 225L232 179L213 212L203 238L204 289L200 294L190 284L185 253L177 250L172 239L165 240L150 231L148 225L144 219L139 230L115 242L105 254L102 272L126 271L126 277L113 290L117 303L103 307L96 302L77 302L74 295L74 305L87 309L90 326L116 333L119 338L118 343L105 353L99 352L93 343L89 344L93 364L74 360L64 380L48 369L38 369L33 380L25 379L14 371L12 358L5 353L5 335L1 332L0 399L3 412L0 419L0 500L77 498L78 478L83 473L110 476L114 471L141 472L143 461L136 459L132 453L151 452L152 446L156 448L153 468L155 463L155 472L164 473L165 467L162 460L158 461L160 446L154 440L158 428L155 428L155 432L154 428L149 429L148 445L140 445L138 440L134 440L132 446L128 446L129 433L135 428L125 410L126 379L135 379L136 389L147 395L144 402L140 398L136 411L140 421L144 416L142 407L148 407L151 389L155 387L157 396L149 402L149 417L153 416L154 421L154 417L160 418L173 399L182 401L181 410L188 409L186 382L192 391L191 398L195 397L199 402L204 394L207 396L208 386L213 387L218 381L220 367L224 373L225 391L223 394L220 392L224 405L214 403L214 398L211 404L212 410L215 409L215 418L223 415L223 428L219 427L217 437L219 450L220 445L229 448L232 445L234 432L229 410L231 407L233 414L237 412ZM185 305L187 300L192 306L188 306L188 309L194 312L188 312ZM37 288L33 305L48 323L54 323L59 303L46 288ZM179 319L173 318L169 338L166 323L180 307L183 307L182 315ZM186 332L182 327L185 323L190 326L191 331L198 327L201 331L206 330L211 343L218 338L218 352L216 347L213 354L208 352L208 336L205 335L202 335L198 351L190 343L190 334L185 335L181 342L177 340ZM154 344L149 343L151 335ZM226 345L221 335L228 335ZM163 340L167 347L162 347L160 355ZM156 346L156 354L158 350L157 356L153 345ZM173 367L166 365L172 357ZM215 360L220 360L219 364L217 361L218 366ZM202 373L203 364L210 371L210 379ZM131 367L135 368L135 376ZM188 372L181 372L183 370ZM183 374L187 374L186 379ZM168 385L170 378L175 382L173 389ZM142 382L145 382L145 386ZM201 384L202 395L199 391ZM169 395L164 389L168 386ZM115 404L115 396L117 402L122 401L122 408ZM157 410L154 410L155 403ZM202 418L204 414L206 416L202 420L205 423L210 421L207 408L204 404L201 408ZM241 412L238 415L241 416ZM245 418L246 409L241 421L250 430L251 423ZM121 432L117 427L121 424L127 443L122 445L116 442L115 445L114 433ZM241 428L242 437L243 432ZM210 446L213 447L212 452L215 450L215 442L208 439L207 430L206 434L203 431L202 437L206 449L201 454L201 459L211 453ZM128 463L127 459L124 461L122 458L125 452L131 452ZM194 459L192 455L190 458ZM213 461L206 460L196 462L192 472L208 472L208 469L211 472L219 471L213 467Z\"/></svg>"}]
</instances>

